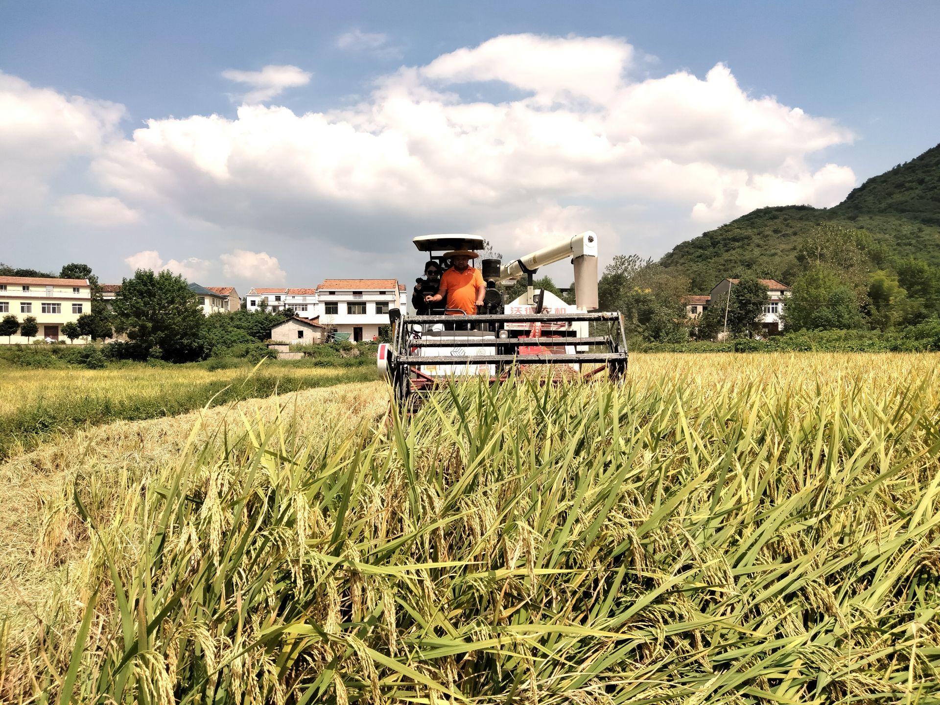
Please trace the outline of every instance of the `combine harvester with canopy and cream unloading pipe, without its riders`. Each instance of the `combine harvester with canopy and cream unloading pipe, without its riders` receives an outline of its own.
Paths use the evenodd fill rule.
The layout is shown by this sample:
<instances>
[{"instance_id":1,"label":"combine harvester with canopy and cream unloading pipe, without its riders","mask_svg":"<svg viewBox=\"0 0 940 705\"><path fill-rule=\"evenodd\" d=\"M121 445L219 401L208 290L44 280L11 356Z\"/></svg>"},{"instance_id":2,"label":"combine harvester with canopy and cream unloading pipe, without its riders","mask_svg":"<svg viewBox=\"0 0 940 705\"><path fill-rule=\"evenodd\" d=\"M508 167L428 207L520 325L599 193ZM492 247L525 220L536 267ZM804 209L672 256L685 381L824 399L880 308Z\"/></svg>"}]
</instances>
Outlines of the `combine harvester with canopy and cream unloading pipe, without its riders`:
<instances>
[{"instance_id":1,"label":"combine harvester with canopy and cream unloading pipe, without its riders","mask_svg":"<svg viewBox=\"0 0 940 705\"><path fill-rule=\"evenodd\" d=\"M442 270L448 251L484 246L476 235L422 235L413 242ZM419 399L417 395L448 379L472 375L499 383L531 366L551 366L547 379L587 379L603 373L622 377L627 369L623 318L596 310L597 252L597 235L588 231L508 264L483 258L486 293L475 314L448 309L446 301L429 304L430 311L422 315L401 316L392 309L392 341L379 346L378 365L399 404ZM574 267L573 306L533 287L540 267L565 258L572 258ZM496 285L523 276L528 280L525 294L504 304Z\"/></svg>"}]
</instances>

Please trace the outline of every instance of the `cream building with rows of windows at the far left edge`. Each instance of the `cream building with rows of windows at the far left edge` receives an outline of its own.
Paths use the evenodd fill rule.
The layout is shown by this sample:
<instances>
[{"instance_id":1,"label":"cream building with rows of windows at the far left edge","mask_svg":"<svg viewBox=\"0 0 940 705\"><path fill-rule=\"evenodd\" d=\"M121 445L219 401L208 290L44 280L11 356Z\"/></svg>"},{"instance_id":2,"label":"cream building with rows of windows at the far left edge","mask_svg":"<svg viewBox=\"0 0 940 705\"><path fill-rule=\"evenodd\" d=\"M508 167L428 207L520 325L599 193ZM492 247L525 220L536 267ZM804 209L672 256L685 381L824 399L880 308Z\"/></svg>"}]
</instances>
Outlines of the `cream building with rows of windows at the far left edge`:
<instances>
[{"instance_id":1,"label":"cream building with rows of windows at the far left edge","mask_svg":"<svg viewBox=\"0 0 940 705\"><path fill-rule=\"evenodd\" d=\"M39 325L35 336L0 337L0 343L65 339L62 326L77 322L91 311L91 287L87 279L40 276L0 276L0 319L13 315L22 324L32 316ZM81 341L81 338L79 338Z\"/></svg>"}]
</instances>

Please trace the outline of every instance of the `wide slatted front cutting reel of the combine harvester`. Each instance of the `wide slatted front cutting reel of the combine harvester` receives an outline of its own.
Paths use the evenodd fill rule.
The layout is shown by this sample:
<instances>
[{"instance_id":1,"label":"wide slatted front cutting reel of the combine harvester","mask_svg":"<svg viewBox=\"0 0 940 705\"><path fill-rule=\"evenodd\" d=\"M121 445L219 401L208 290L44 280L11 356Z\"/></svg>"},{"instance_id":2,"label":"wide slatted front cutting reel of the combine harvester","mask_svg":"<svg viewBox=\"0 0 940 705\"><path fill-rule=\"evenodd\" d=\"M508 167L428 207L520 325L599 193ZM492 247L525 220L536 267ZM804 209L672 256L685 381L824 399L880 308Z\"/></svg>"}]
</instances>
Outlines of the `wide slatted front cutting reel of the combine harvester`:
<instances>
[{"instance_id":1,"label":"wide slatted front cutting reel of the combine harvester","mask_svg":"<svg viewBox=\"0 0 940 705\"><path fill-rule=\"evenodd\" d=\"M405 316L394 321L392 341L379 346L378 358L399 405L413 409L450 380L498 384L536 367L547 367L539 377L550 382L604 372L620 380L627 342L616 312Z\"/></svg>"}]
</instances>

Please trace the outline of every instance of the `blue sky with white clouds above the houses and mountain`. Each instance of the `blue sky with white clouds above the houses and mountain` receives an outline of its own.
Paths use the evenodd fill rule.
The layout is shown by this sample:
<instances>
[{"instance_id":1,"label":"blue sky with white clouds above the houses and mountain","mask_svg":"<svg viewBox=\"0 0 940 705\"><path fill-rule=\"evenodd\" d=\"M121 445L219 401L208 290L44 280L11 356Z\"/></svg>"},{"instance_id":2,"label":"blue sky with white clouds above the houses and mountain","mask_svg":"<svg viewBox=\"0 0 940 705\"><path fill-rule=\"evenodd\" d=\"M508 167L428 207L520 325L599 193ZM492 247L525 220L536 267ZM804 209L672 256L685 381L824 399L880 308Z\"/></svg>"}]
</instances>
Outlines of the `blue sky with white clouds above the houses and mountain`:
<instances>
[{"instance_id":1,"label":"blue sky with white clouds above the houses and mountain","mask_svg":"<svg viewBox=\"0 0 940 705\"><path fill-rule=\"evenodd\" d=\"M655 257L940 141L938 29L936 2L4 3L0 259L310 286L409 280L425 231L588 227ZM223 76L264 67L295 72Z\"/></svg>"}]
</instances>

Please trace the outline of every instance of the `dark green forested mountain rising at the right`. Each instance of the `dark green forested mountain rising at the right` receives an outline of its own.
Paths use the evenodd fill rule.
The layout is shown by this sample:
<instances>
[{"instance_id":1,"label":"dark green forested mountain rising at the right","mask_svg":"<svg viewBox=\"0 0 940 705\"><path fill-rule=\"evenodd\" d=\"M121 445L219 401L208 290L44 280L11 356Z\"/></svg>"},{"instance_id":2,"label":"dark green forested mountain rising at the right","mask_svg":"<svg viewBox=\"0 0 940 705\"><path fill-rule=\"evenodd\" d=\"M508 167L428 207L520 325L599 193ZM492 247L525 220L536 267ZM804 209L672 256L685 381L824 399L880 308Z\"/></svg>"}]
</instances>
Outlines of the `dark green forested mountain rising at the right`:
<instances>
[{"instance_id":1,"label":"dark green forested mountain rising at the right","mask_svg":"<svg viewBox=\"0 0 940 705\"><path fill-rule=\"evenodd\" d=\"M824 223L866 230L894 256L940 266L940 145L872 177L838 206L760 208L676 245L660 263L687 275L695 292L742 274L789 283L798 270L797 246Z\"/></svg>"}]
</instances>

